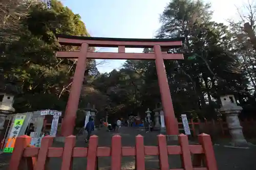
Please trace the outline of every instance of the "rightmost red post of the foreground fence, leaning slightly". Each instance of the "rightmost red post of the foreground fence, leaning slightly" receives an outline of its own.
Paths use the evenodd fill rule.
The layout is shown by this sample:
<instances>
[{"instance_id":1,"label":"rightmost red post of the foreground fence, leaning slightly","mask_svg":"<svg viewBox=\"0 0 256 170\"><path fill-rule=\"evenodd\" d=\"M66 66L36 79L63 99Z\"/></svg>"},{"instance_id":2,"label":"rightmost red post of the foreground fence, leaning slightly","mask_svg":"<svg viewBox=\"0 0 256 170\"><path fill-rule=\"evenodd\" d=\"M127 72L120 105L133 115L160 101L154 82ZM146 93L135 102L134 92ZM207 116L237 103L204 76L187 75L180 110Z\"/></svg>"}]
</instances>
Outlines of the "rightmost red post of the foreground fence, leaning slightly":
<instances>
[{"instance_id":1,"label":"rightmost red post of the foreground fence, leaning slightly","mask_svg":"<svg viewBox=\"0 0 256 170\"><path fill-rule=\"evenodd\" d=\"M198 140L204 150L206 167L209 170L218 170L217 162L214 154L214 148L212 147L210 135L202 133L198 135Z\"/></svg>"}]
</instances>

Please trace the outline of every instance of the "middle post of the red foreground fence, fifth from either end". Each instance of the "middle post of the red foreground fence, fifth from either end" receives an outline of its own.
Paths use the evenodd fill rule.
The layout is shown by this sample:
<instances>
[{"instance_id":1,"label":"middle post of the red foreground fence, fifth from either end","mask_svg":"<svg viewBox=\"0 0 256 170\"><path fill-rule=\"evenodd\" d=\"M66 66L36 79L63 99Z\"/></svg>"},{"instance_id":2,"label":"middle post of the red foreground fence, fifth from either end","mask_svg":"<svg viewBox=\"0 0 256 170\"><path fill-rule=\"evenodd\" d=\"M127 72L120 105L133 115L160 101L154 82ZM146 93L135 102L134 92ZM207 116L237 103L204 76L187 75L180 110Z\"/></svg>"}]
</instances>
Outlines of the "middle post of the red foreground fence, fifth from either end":
<instances>
[{"instance_id":1,"label":"middle post of the red foreground fence, fifth from either end","mask_svg":"<svg viewBox=\"0 0 256 170\"><path fill-rule=\"evenodd\" d=\"M111 141L111 170L120 170L122 161L122 141L120 135L114 135Z\"/></svg>"}]
</instances>

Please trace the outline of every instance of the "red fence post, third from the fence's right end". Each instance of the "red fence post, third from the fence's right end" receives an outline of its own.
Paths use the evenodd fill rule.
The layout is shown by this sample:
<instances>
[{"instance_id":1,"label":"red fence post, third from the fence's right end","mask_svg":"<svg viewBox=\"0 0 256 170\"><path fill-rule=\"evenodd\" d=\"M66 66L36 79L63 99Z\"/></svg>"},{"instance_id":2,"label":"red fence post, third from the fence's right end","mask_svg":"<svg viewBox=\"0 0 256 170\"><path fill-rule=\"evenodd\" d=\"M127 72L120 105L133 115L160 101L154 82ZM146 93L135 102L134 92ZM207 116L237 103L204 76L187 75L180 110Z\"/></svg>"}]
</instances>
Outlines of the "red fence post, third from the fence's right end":
<instances>
[{"instance_id":1,"label":"red fence post, third from the fence's right end","mask_svg":"<svg viewBox=\"0 0 256 170\"><path fill-rule=\"evenodd\" d=\"M157 135L158 150L159 150L159 164L161 170L169 170L168 152L165 135ZM137 169L139 170L139 169Z\"/></svg>"}]
</instances>

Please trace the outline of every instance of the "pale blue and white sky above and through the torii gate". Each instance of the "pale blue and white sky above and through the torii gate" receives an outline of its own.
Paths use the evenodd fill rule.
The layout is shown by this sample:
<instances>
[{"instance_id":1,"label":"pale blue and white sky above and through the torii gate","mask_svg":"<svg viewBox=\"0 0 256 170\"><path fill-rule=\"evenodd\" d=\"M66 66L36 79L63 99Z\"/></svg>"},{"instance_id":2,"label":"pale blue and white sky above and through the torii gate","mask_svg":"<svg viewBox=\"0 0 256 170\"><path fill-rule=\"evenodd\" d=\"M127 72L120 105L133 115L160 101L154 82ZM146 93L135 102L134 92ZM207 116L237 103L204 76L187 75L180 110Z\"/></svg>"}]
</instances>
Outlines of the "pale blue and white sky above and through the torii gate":
<instances>
[{"instance_id":1,"label":"pale blue and white sky above and through the torii gate","mask_svg":"<svg viewBox=\"0 0 256 170\"><path fill-rule=\"evenodd\" d=\"M154 38L160 27L159 15L170 0L62 0L63 5L81 16L93 37ZM247 0L205 0L211 3L213 20L227 23L236 18L237 7ZM117 48L99 48L100 52L117 52ZM141 53L142 49L125 48L126 53ZM101 62L101 60L97 60ZM121 68L125 60L106 60L98 70L110 72Z\"/></svg>"}]
</instances>

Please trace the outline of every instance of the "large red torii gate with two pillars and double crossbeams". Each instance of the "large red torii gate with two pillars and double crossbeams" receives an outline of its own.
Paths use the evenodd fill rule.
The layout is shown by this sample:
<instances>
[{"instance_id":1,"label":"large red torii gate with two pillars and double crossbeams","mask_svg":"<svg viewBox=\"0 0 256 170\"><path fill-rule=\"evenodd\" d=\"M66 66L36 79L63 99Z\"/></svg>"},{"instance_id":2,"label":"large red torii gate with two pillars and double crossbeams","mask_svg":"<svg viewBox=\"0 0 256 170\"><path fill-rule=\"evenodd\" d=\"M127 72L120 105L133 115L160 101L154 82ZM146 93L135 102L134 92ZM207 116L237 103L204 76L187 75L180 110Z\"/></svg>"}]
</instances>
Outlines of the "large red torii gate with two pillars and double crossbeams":
<instances>
[{"instance_id":1,"label":"large red torii gate with two pillars and double crossbeams","mask_svg":"<svg viewBox=\"0 0 256 170\"><path fill-rule=\"evenodd\" d=\"M167 54L169 48L181 47L183 38L172 39L127 39L127 38L100 38L80 37L69 35L57 35L60 45L80 46L77 52L57 52L58 58L78 58L73 83L70 89L65 117L61 125L61 135L73 135L76 111L78 109L84 71L87 59L132 59L150 60L155 59L160 87L161 101L164 111L164 120L167 135L178 135L178 122L174 114L172 97L163 60L183 59L183 54ZM118 47L118 53L96 53L89 51L89 47ZM125 47L154 48L154 53L125 53ZM161 50L162 48L162 50ZM163 51L163 52L162 52Z\"/></svg>"}]
</instances>

